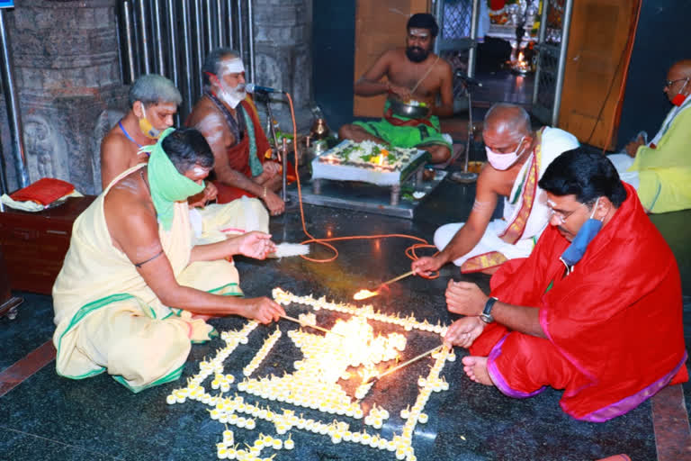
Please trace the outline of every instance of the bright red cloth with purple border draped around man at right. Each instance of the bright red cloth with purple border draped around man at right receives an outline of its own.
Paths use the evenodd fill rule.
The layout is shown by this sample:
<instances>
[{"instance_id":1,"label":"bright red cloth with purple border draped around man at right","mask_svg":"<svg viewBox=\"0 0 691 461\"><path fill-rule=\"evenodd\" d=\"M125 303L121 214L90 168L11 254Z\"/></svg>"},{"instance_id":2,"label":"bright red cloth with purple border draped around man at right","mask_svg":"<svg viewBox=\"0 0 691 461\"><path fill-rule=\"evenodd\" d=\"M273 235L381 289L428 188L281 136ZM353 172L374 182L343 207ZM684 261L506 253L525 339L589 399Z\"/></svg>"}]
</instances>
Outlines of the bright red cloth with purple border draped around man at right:
<instances>
[{"instance_id":1,"label":"bright red cloth with purple border draped around man at right","mask_svg":"<svg viewBox=\"0 0 691 461\"><path fill-rule=\"evenodd\" d=\"M564 411L602 421L688 380L677 262L633 187L624 187L626 200L569 276L559 257L570 242L550 226L529 258L508 261L492 277L492 296L540 309L549 339L496 323L476 339L471 354L489 356L502 392L563 388Z\"/></svg>"}]
</instances>

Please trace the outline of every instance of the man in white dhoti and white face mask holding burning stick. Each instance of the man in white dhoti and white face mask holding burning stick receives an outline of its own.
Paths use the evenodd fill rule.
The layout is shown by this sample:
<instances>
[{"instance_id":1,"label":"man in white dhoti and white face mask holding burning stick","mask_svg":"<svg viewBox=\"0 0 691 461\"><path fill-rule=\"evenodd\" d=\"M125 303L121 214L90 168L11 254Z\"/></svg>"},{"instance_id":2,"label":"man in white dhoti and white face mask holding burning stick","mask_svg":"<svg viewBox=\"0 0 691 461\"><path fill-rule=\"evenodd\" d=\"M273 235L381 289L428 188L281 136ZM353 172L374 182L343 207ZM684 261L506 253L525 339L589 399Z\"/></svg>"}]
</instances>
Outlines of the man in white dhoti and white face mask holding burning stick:
<instances>
[{"instance_id":1,"label":"man in white dhoti and white face mask holding burning stick","mask_svg":"<svg viewBox=\"0 0 691 461\"><path fill-rule=\"evenodd\" d=\"M508 259L528 257L550 219L537 182L554 158L579 147L566 131L533 131L528 113L514 104L494 104L482 136L488 164L480 171L468 221L437 229L439 253L414 261L416 273L428 274L453 261L463 273L491 274ZM491 221L499 197L504 197L504 217Z\"/></svg>"}]
</instances>

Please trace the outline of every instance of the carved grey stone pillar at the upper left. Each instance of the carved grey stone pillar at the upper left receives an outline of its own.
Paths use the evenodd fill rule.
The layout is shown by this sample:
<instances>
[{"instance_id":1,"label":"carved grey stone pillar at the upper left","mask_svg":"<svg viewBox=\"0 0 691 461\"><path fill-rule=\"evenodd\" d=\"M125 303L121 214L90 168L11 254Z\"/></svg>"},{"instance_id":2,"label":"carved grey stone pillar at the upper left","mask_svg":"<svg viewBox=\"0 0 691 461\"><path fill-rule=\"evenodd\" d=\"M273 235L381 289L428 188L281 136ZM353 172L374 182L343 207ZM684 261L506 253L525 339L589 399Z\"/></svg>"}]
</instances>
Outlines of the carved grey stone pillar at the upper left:
<instances>
[{"instance_id":1,"label":"carved grey stone pillar at the upper left","mask_svg":"<svg viewBox=\"0 0 691 461\"><path fill-rule=\"evenodd\" d=\"M85 194L100 191L100 137L109 108L126 106L115 27L116 0L16 0L9 10L14 77L30 182L64 179ZM4 168L17 187L0 104Z\"/></svg>"}]
</instances>

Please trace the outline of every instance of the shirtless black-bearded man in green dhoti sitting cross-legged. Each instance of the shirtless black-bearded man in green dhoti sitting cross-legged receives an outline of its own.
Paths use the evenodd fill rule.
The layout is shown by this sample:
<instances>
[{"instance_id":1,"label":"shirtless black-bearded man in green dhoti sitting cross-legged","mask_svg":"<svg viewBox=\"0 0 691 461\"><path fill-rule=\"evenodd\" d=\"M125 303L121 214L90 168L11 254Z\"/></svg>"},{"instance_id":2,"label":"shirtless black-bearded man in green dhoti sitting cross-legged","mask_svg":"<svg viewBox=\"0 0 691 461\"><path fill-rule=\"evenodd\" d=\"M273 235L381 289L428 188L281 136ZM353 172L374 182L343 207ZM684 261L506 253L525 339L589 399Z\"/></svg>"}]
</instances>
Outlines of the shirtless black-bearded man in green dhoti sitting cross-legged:
<instances>
[{"instance_id":1,"label":"shirtless black-bearded man in green dhoti sitting cross-legged","mask_svg":"<svg viewBox=\"0 0 691 461\"><path fill-rule=\"evenodd\" d=\"M432 52L439 32L432 14L413 14L407 29L406 48L384 52L355 82L355 95L389 96L383 119L344 125L338 134L358 142L372 140L404 149L423 149L431 154L433 163L444 162L451 157L451 140L444 139L440 132L438 117L453 115L451 66ZM382 81L382 77L386 79ZM397 113L396 103L417 105L426 115L410 118Z\"/></svg>"}]
</instances>

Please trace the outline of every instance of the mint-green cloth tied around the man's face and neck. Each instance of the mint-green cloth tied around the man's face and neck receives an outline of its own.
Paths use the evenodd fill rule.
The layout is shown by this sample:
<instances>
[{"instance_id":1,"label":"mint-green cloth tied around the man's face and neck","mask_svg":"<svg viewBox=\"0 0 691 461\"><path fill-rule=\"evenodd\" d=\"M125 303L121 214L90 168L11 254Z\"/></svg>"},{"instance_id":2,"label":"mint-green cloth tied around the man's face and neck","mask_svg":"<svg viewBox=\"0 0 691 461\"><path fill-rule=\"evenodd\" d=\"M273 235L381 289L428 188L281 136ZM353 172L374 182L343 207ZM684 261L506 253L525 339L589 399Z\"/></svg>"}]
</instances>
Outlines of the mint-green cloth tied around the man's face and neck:
<instances>
[{"instance_id":1,"label":"mint-green cloth tied around the man's face and neck","mask_svg":"<svg viewBox=\"0 0 691 461\"><path fill-rule=\"evenodd\" d=\"M140 150L150 152L148 158L148 184L151 187L151 199L158 215L158 222L164 230L170 230L175 215L175 202L187 200L194 194L204 190L204 185L198 185L187 176L181 175L173 162L163 150L162 143L166 136L175 131L168 128L161 133L157 143L145 146Z\"/></svg>"}]
</instances>

